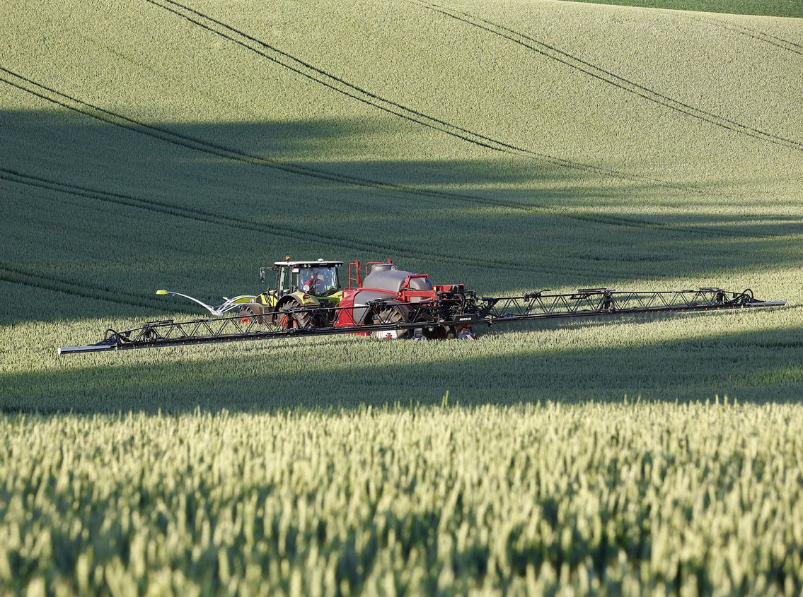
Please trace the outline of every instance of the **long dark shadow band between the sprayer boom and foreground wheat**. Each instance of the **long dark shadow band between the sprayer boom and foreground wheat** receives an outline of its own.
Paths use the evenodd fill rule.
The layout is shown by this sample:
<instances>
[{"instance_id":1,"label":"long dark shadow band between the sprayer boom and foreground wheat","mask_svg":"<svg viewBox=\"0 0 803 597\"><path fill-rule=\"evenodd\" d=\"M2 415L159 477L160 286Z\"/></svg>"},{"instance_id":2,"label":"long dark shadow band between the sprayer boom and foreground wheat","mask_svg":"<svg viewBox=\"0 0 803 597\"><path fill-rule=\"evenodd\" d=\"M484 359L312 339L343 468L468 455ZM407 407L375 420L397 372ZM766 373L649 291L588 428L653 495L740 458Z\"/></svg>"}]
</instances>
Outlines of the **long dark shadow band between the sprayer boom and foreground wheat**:
<instances>
[{"instance_id":1,"label":"long dark shadow band between the sprayer boom and foreground wheat","mask_svg":"<svg viewBox=\"0 0 803 597\"><path fill-rule=\"evenodd\" d=\"M621 401L625 395L630 400L685 401L718 394L742 402L795 402L803 392L799 330L721 332L658 343L631 338L609 347L543 346L557 329L530 326L532 347L518 344L508 351L506 343L520 343L520 336L516 340L498 333L474 343L430 342L423 347L371 339L254 343L208 359L198 359L202 352L190 352L203 348L158 349L158 355L154 351L149 357L157 358L148 362L141 362L141 353L61 357L75 360L59 370L2 376L0 410L336 410L439 404L447 389L453 403L466 406ZM600 333L605 333L603 327ZM324 349L328 362L316 362L314 355Z\"/></svg>"}]
</instances>

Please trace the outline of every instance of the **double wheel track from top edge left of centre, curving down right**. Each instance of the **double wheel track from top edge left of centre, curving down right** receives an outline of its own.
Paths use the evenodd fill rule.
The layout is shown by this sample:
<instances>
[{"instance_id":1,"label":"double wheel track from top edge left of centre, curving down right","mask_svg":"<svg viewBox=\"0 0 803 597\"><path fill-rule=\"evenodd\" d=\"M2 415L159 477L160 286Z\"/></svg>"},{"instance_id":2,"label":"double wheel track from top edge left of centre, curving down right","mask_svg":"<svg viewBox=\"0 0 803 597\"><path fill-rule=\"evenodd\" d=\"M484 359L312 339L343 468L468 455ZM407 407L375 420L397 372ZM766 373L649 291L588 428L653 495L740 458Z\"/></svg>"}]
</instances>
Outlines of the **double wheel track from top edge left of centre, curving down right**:
<instances>
[{"instance_id":1,"label":"double wheel track from top edge left of centre, curving down right","mask_svg":"<svg viewBox=\"0 0 803 597\"><path fill-rule=\"evenodd\" d=\"M561 168L580 170L583 172L596 174L597 176L613 177L667 189L679 189L684 191L692 190L697 193L703 192L702 189L697 187L676 185L671 182L659 181L649 177L639 177L638 175L620 172L618 170L605 169L601 166L595 166L593 164L566 160L564 158L551 156L546 153L535 152L531 149L521 148L514 144L509 144L502 140L494 139L490 136L483 135L482 133L471 131L470 129L460 127L456 124L451 124L445 120L435 118L434 116L429 116L413 108L408 108L392 100L385 99L380 95L373 93L372 91L367 91L364 88L358 87L353 83L349 83L348 81L336 75L332 75L331 73L328 73L327 71L324 71L323 69L320 69L311 63L296 58L296 56L279 50L279 48L271 46L270 44L257 39L253 35L249 35L234 28L233 26L227 25L225 22L222 22L214 17L210 17L209 15L204 14L199 10L195 10L190 6L185 6L180 2L175 2L175 0L145 0L145 2L149 2L149 4L158 6L163 10L168 10L170 13L184 18L185 20L193 23L195 26L200 26L202 29L210 31L214 35L218 35L223 39L226 39L232 43L236 43L238 46L244 47L248 51L254 52L255 54L264 59L270 60L272 63L275 63L280 67L287 68L288 70L295 72L297 75L301 75L316 83L320 83L332 91L336 91L352 99L357 99L357 101L360 101L363 104L368 104L373 108L377 108L383 112L392 114L393 116L397 116L426 128L446 133L447 135L465 140L471 144L475 144L483 148L489 148L497 152L536 158L549 164L560 166ZM254 44L256 44L258 47L255 47Z\"/></svg>"}]
</instances>

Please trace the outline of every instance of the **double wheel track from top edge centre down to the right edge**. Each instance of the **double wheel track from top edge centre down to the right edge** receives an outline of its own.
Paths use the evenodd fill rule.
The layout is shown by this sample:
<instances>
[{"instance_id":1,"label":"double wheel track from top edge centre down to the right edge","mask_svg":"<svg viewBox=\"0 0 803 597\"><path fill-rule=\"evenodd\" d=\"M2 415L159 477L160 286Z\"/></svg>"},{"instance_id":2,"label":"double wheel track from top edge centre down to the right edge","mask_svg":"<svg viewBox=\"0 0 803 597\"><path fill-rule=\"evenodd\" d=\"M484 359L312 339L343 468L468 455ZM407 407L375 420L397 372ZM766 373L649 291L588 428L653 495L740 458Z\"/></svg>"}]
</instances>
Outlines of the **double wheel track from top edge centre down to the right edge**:
<instances>
[{"instance_id":1,"label":"double wheel track from top edge centre down to the right edge","mask_svg":"<svg viewBox=\"0 0 803 597\"><path fill-rule=\"evenodd\" d=\"M529 37L520 31L511 29L510 27L499 25L499 23L488 21L485 18L475 17L474 15L463 12L462 10L446 8L432 2L422 2L422 0L407 1L416 6L421 6L427 10L432 10L446 17L453 18L459 22L466 23L467 25L477 27L478 29L487 31L492 35L507 39L512 43L516 43L548 59L555 60L556 62L573 68L576 71L580 71L585 75L589 75L593 77L593 79L597 79L603 83L617 87L618 89L626 91L627 93L638 95L638 97L641 97L642 99L646 99L647 101L664 108L669 108L675 112L678 112L679 114L691 116L697 120L707 122L708 124L713 124L716 127L724 128L725 130L734 132L736 134L752 137L756 140L775 144L783 148L803 151L803 143L800 141L773 135L770 132L762 131L760 128L754 128L746 124L740 124L736 122L736 120L730 120L724 116L719 116L713 112L703 110L702 108L695 108L690 104L680 101L679 99L671 98L668 95L664 95L659 91L654 91L649 87L635 83L634 81L617 75L612 71L608 71L605 68L597 67L595 64L589 63L581 58L577 58L575 55L562 51L557 47L549 45L548 43L541 42L538 39Z\"/></svg>"}]
</instances>

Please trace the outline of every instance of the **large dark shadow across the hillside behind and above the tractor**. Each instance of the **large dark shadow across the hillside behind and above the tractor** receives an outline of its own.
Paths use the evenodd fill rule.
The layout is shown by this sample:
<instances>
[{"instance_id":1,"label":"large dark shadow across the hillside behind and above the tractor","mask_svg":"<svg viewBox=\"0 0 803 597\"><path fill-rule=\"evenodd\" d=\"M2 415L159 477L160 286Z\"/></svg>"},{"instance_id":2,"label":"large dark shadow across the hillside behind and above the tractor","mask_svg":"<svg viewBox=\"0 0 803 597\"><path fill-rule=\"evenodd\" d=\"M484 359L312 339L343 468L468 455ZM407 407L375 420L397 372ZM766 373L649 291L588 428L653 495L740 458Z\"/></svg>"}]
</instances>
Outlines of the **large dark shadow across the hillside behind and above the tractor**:
<instances>
[{"instance_id":1,"label":"large dark shadow across the hillside behind and above the tractor","mask_svg":"<svg viewBox=\"0 0 803 597\"><path fill-rule=\"evenodd\" d=\"M181 308L153 296L164 286L209 303L258 294L257 268L287 252L394 258L482 294L704 286L803 259L803 217L633 213L675 191L495 154L388 160L375 121L152 123L204 151L62 112L0 122L2 324ZM339 157L358 148L371 157Z\"/></svg>"}]
</instances>

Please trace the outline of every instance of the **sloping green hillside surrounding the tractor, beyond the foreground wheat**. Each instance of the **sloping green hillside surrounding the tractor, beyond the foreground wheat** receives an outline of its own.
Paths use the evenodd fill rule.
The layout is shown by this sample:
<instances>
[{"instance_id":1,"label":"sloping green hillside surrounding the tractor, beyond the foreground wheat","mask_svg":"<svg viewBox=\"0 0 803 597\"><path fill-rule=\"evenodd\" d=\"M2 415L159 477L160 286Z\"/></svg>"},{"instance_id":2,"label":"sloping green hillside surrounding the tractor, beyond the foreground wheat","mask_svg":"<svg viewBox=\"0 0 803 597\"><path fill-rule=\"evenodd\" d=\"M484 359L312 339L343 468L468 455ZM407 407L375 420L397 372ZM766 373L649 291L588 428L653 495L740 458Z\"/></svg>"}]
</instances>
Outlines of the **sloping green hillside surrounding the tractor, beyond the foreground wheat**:
<instances>
[{"instance_id":1,"label":"sloping green hillside surrounding the tractor, beyond the foreground wheat","mask_svg":"<svg viewBox=\"0 0 803 597\"><path fill-rule=\"evenodd\" d=\"M350 404L364 353L380 381L356 395L380 403L445 388L470 401L800 391L797 20L568 2L11 9L0 47L6 408L84 408L96 376L114 409L169 408L168 386L175 405L198 392L239 404L254 381L238 372L281 380L312 355L310 375L349 381L332 404ZM163 286L210 302L257 292L256 268L286 252L390 257L487 294L718 284L791 306L378 354L343 340L53 356L109 326L190 311L157 300ZM772 355L768 337L780 343ZM596 378L600 358L613 366ZM618 366L633 359L638 373ZM174 363L219 381L188 381ZM463 367L487 390L461 381ZM154 385L154 368L175 387ZM300 382L289 383L295 404Z\"/></svg>"}]
</instances>

